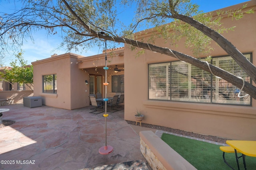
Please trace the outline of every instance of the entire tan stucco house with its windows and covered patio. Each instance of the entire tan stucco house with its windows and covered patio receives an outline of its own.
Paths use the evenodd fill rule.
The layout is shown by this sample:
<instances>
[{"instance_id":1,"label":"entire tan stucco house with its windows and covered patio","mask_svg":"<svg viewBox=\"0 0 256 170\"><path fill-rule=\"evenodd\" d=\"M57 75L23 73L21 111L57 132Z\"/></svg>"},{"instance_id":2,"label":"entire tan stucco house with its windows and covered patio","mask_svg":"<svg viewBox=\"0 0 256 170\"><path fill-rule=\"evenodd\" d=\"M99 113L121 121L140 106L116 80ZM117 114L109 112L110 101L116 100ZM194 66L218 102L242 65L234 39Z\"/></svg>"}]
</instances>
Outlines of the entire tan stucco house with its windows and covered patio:
<instances>
[{"instance_id":1,"label":"entire tan stucco house with its windows and covered patio","mask_svg":"<svg viewBox=\"0 0 256 170\"><path fill-rule=\"evenodd\" d=\"M256 1L252 0L222 10L241 8L244 4L248 4L247 9L256 9ZM227 27L236 26L234 31L223 33L224 37L256 65L256 14L246 14L237 21L223 18L222 22ZM154 33L156 29L148 29L135 33L135 37L146 41ZM156 39L155 44L167 45L162 39ZM224 50L215 43L212 45L210 62L251 82ZM182 43L169 48L192 55ZM126 45L106 52L111 60L108 94L124 93L124 119L135 121L134 112L140 109L145 115L143 123L230 139L256 140L256 100L250 96L237 98L239 89L232 84L149 50L140 57L135 57L138 51L131 51ZM34 96L42 96L43 104L52 107L89 106L89 94L104 95L104 59L105 51L89 57L66 53L33 62ZM118 71L114 72L114 68Z\"/></svg>"}]
</instances>

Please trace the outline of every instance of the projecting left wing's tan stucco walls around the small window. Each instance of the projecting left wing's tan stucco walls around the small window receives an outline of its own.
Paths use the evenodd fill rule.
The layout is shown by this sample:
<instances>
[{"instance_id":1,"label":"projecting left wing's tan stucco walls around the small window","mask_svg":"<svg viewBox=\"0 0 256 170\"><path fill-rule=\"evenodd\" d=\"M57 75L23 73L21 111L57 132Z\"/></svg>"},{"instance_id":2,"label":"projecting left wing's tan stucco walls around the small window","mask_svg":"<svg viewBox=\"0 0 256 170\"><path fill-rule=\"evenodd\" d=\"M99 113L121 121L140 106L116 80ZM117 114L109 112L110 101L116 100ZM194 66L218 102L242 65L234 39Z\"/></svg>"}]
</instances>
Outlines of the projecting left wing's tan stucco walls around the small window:
<instances>
[{"instance_id":1,"label":"projecting left wing's tan stucco walls around the small window","mask_svg":"<svg viewBox=\"0 0 256 170\"><path fill-rule=\"evenodd\" d=\"M75 109L89 106L89 91L85 80L88 74L78 69L80 55L67 53L33 62L34 96L42 96L42 104L52 107ZM42 76L57 74L57 94L42 93Z\"/></svg>"}]
</instances>

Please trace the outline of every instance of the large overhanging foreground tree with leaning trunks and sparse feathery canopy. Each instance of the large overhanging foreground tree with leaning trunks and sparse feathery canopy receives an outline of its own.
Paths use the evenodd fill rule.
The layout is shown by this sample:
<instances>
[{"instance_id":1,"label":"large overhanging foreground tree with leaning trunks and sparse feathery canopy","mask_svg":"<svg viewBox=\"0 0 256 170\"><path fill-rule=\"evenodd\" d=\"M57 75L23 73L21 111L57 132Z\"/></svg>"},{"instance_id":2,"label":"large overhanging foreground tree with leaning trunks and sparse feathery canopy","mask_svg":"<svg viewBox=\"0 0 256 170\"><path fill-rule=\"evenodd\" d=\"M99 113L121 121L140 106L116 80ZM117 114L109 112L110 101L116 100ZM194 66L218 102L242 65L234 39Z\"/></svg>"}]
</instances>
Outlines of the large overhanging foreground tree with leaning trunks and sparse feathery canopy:
<instances>
[{"instance_id":1,"label":"large overhanging foreground tree with leaning trunks and sparse feathery canopy","mask_svg":"<svg viewBox=\"0 0 256 170\"><path fill-rule=\"evenodd\" d=\"M256 86L226 70L196 59L198 53L203 53L205 47L208 47L213 40L256 83L256 67L221 35L223 31L233 28L223 27L222 17L231 16L238 20L245 13L254 12L254 10L245 11L246 6L233 11L219 11L218 16L213 17L211 13L204 14L198 11L198 6L192 4L190 0L21 0L21 2L23 6L20 10L0 16L0 45L4 46L2 49L6 49L5 45L9 44L22 45L27 37L33 40L31 31L39 29L46 29L49 34L60 31L63 37L62 46L67 45L68 50L77 49L79 46L90 48L106 40L126 43L131 49L151 50L211 72L240 89L243 87L244 92L256 99ZM126 27L118 20L120 2L125 7L135 5L138 7L134 23ZM132 17L131 14L127 16ZM154 40L159 37L152 37L147 42L144 39L136 39L132 33L141 23L156 26L160 38L170 44L173 44L171 40L179 41L181 37L186 37L185 45L193 50L195 56L154 45ZM174 33L180 34L171 35L172 29ZM143 53L143 50L140 53Z\"/></svg>"}]
</instances>

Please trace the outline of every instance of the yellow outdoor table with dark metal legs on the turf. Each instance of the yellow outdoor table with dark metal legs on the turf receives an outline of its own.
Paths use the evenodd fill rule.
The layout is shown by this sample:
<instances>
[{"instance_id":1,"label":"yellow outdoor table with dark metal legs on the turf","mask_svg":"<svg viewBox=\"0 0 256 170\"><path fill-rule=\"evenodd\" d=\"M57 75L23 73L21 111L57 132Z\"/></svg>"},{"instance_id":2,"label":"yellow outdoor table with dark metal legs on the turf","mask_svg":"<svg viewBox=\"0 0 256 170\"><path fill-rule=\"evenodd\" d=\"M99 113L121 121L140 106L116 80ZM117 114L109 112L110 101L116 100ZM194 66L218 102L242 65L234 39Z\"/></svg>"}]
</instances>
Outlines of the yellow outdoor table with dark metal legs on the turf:
<instances>
[{"instance_id":1,"label":"yellow outdoor table with dark metal legs on the turf","mask_svg":"<svg viewBox=\"0 0 256 170\"><path fill-rule=\"evenodd\" d=\"M237 156L237 151L242 153L244 169L246 170L245 155L256 157L256 141L226 141L226 143L235 150L238 170L240 170L238 159L241 156Z\"/></svg>"}]
</instances>

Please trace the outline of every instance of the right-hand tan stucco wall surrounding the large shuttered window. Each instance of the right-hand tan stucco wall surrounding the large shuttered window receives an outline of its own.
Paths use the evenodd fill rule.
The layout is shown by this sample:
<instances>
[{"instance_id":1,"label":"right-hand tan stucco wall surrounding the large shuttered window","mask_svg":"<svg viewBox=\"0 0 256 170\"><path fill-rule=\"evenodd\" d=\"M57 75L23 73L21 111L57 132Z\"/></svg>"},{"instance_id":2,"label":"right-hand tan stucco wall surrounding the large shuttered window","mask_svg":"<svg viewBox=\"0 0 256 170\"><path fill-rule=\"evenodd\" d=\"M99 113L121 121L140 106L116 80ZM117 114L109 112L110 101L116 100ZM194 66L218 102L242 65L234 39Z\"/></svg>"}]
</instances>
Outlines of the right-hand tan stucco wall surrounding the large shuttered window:
<instances>
[{"instance_id":1,"label":"right-hand tan stucco wall surrounding the large shuttered window","mask_svg":"<svg viewBox=\"0 0 256 170\"><path fill-rule=\"evenodd\" d=\"M256 1L248 2L250 8L255 9ZM241 5L240 5L241 7ZM233 8L238 8L234 6ZM228 8L229 10L229 8ZM252 52L253 63L256 65L256 14L246 14L242 20L224 18L225 25L236 28L234 31L223 33L242 53ZM150 36L142 32L144 40ZM138 36L138 40L140 40ZM156 40L156 45L169 47L161 40ZM222 49L212 43L215 50L212 56L227 55ZM188 55L192 53L179 47L171 47ZM230 106L218 104L196 104L187 102L169 102L148 100L148 64L166 61L176 61L176 58L153 53L146 50L144 55L135 58L137 51L130 51L125 47L125 115L126 120L135 121L134 111L140 109L144 112L144 123L191 131L207 135L226 137L240 140L256 140L256 100L252 106ZM136 76L134 76L136 75ZM254 84L255 85L255 84Z\"/></svg>"}]
</instances>

